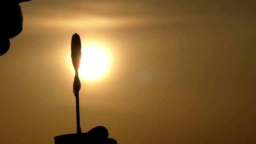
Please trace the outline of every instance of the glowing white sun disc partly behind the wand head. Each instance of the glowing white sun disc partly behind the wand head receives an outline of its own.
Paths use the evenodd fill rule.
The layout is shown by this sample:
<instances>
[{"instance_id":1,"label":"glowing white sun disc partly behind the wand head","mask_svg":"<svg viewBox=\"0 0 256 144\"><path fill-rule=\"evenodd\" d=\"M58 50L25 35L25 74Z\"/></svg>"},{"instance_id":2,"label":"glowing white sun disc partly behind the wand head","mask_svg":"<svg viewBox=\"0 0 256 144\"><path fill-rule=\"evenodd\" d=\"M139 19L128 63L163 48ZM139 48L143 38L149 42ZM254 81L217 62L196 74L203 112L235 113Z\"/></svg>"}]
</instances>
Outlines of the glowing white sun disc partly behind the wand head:
<instances>
[{"instance_id":1,"label":"glowing white sun disc partly behind the wand head","mask_svg":"<svg viewBox=\"0 0 256 144\"><path fill-rule=\"evenodd\" d=\"M106 74L108 67L109 56L102 46L89 44L82 47L79 76L90 81L98 80Z\"/></svg>"}]
</instances>

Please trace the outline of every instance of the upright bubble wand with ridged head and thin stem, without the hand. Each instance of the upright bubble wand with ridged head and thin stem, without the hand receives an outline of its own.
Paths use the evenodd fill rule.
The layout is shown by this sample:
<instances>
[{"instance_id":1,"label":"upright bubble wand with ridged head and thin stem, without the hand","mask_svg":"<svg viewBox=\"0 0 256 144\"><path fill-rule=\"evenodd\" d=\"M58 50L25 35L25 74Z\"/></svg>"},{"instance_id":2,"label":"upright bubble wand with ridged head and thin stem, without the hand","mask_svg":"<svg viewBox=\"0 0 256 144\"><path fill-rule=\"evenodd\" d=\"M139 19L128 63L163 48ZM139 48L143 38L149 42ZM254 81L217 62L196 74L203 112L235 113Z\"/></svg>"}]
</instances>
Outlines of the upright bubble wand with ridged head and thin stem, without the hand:
<instances>
[{"instance_id":1,"label":"upright bubble wand with ridged head and thin stem, without the hand","mask_svg":"<svg viewBox=\"0 0 256 144\"><path fill-rule=\"evenodd\" d=\"M71 39L71 59L72 59L73 66L75 68L73 93L75 95L75 101L76 101L77 133L81 133L80 113L79 113L79 91L81 88L81 83L78 77L78 68L80 67L80 62L81 62L81 40L80 40L80 36L77 35L77 33L72 35L72 39Z\"/></svg>"}]
</instances>

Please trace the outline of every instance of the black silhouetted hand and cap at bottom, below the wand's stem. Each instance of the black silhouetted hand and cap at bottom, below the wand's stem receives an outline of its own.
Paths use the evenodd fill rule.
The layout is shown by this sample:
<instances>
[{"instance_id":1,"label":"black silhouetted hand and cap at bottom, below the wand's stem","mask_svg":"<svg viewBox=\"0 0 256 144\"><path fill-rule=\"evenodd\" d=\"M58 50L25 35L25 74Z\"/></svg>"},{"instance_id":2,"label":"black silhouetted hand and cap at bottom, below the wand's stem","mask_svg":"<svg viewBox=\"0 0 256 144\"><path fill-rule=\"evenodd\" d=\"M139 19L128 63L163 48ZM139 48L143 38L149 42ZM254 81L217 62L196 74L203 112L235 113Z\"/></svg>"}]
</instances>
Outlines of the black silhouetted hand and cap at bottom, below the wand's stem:
<instances>
[{"instance_id":1,"label":"black silhouetted hand and cap at bottom, below the wand's stem","mask_svg":"<svg viewBox=\"0 0 256 144\"><path fill-rule=\"evenodd\" d=\"M107 128L97 126L88 133L71 133L55 136L55 144L117 144L115 139L108 138Z\"/></svg>"}]
</instances>

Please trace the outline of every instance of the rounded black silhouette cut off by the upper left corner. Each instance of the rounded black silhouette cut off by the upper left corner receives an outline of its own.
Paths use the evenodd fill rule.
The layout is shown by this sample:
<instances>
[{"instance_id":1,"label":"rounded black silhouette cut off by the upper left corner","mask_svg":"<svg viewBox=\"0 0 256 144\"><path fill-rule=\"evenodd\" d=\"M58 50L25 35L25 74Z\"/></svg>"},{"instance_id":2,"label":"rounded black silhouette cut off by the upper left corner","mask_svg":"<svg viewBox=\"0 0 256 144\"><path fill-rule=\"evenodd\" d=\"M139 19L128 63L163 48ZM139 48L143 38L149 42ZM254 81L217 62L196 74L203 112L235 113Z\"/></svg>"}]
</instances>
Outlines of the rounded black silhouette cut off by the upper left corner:
<instances>
[{"instance_id":1,"label":"rounded black silhouette cut off by the upper left corner","mask_svg":"<svg viewBox=\"0 0 256 144\"><path fill-rule=\"evenodd\" d=\"M0 56L9 50L9 39L16 37L22 31L23 16L19 3L31 0L2 1L0 7Z\"/></svg>"}]
</instances>

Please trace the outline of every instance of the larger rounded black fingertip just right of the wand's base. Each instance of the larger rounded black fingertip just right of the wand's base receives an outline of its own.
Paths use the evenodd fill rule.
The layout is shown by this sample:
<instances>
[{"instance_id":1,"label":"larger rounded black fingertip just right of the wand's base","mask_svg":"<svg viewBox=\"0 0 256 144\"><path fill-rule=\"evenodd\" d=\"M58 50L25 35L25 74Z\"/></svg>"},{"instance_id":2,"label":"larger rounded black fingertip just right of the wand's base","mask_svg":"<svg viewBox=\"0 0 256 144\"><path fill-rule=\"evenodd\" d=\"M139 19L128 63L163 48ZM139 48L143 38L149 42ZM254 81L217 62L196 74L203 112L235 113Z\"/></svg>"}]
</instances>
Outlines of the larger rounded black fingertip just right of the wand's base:
<instances>
[{"instance_id":1,"label":"larger rounded black fingertip just right of the wand's base","mask_svg":"<svg viewBox=\"0 0 256 144\"><path fill-rule=\"evenodd\" d=\"M107 139L109 132L104 126L97 126L90 131L88 131L88 136L91 136L93 139Z\"/></svg>"}]
</instances>

